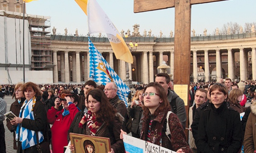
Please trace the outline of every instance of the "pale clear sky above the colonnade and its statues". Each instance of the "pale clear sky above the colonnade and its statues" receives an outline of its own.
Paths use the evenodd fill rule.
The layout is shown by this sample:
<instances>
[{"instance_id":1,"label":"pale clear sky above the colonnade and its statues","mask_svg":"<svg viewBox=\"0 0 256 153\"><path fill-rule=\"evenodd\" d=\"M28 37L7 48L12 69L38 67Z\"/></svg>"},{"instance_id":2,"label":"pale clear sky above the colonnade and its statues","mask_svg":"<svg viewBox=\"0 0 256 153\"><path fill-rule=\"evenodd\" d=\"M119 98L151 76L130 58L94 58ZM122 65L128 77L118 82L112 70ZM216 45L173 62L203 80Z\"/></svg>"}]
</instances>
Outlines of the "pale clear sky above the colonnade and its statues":
<instances>
[{"instance_id":1,"label":"pale clear sky above the colonnade and its statues","mask_svg":"<svg viewBox=\"0 0 256 153\"><path fill-rule=\"evenodd\" d=\"M154 36L159 36L162 31L163 37L170 37L170 31L174 32L175 8L134 13L134 0L97 2L119 32L122 29L132 32L134 24L139 24L141 35L144 29L151 29L151 35ZM86 36L88 33L87 16L75 0L37 0L26 5L27 14L50 16L51 29L55 27L57 34L63 35L65 28L68 29L68 35L74 35L76 29L80 36ZM191 30L195 29L195 33L200 35L207 29L207 34L213 34L217 27L221 30L228 22L236 22L244 28L245 23L256 22L255 8L255 0L224 0L192 5ZM93 33L93 36L98 35ZM102 35L106 36L104 33Z\"/></svg>"}]
</instances>

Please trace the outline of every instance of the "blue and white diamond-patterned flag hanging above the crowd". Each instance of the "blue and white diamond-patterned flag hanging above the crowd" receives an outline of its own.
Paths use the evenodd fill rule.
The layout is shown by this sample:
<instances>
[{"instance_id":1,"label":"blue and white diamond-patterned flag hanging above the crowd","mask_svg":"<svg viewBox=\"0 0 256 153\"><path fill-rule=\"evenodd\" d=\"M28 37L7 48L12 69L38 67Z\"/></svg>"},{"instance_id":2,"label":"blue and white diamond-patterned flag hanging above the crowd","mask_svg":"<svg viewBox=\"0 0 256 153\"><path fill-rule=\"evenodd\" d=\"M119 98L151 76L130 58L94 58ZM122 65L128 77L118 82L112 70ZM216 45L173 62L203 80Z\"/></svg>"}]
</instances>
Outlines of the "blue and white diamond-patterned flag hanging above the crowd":
<instances>
[{"instance_id":1,"label":"blue and white diamond-patterned flag hanging above the crowd","mask_svg":"<svg viewBox=\"0 0 256 153\"><path fill-rule=\"evenodd\" d=\"M107 82L115 82L117 85L117 95L124 101L127 106L127 96L131 91L130 88L124 84L122 79L110 67L101 53L95 48L93 43L89 41L89 55L90 55L90 78L99 84L106 85Z\"/></svg>"}]
</instances>

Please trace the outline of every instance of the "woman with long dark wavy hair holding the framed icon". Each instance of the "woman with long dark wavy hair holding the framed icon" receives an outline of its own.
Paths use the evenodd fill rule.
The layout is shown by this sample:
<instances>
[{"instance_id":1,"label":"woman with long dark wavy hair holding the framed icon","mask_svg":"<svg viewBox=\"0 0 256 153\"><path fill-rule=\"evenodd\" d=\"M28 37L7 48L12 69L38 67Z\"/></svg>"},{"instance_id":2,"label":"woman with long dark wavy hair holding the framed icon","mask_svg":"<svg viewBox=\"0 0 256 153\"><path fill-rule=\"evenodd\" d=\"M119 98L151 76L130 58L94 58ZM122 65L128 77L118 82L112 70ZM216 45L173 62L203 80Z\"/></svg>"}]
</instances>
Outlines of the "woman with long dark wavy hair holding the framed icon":
<instances>
[{"instance_id":1,"label":"woman with long dark wavy hair holding the framed icon","mask_svg":"<svg viewBox=\"0 0 256 153\"><path fill-rule=\"evenodd\" d=\"M88 101L88 113L80 116L71 124L73 132L90 136L110 138L111 151L109 153L123 153L124 143L120 139L123 117L117 113L109 103L104 91L93 89L86 96ZM79 116L80 113L77 113ZM75 117L76 118L76 117ZM74 151L73 145L70 146Z\"/></svg>"}]
</instances>

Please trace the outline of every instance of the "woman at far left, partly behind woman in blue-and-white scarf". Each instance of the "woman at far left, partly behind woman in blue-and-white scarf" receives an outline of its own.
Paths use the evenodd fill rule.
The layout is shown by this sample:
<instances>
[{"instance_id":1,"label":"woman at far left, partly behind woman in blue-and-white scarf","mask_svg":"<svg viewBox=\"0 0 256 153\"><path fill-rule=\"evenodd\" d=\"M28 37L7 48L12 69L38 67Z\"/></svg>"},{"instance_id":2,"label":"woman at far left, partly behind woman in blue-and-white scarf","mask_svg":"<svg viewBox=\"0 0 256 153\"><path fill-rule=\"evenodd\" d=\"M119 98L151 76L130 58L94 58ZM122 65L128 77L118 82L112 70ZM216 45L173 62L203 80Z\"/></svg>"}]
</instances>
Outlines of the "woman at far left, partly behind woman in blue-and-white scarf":
<instances>
[{"instance_id":1,"label":"woman at far left, partly behind woman in blue-and-white scarf","mask_svg":"<svg viewBox=\"0 0 256 153\"><path fill-rule=\"evenodd\" d=\"M15 98L15 102L12 103L10 107L10 111L12 111L16 116L19 116L20 114L20 108L22 107L22 104L24 100L26 99L24 96L24 93L22 92L22 83L18 83L15 85L15 92L12 95L12 99ZM8 118L6 119L6 126L8 129L13 132L13 149L17 149L17 143L15 139L15 132L17 128L17 124L15 122L10 121Z\"/></svg>"}]
</instances>

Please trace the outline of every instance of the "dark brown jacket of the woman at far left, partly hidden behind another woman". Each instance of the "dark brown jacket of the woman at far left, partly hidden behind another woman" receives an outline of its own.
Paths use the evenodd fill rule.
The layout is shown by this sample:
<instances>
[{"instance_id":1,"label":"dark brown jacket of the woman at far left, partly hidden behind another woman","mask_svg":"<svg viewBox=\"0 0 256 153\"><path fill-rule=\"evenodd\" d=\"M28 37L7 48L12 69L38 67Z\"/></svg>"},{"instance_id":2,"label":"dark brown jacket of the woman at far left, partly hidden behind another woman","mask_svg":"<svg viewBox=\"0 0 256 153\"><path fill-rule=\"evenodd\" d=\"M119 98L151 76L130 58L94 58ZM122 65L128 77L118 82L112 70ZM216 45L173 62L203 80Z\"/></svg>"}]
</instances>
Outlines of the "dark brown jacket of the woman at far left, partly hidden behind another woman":
<instances>
[{"instance_id":1,"label":"dark brown jacket of the woman at far left, partly hidden behind another woman","mask_svg":"<svg viewBox=\"0 0 256 153\"><path fill-rule=\"evenodd\" d=\"M15 102L12 103L10 107L10 111L12 111L17 117L20 115L20 108L22 107L22 104L24 102L25 98L21 98L21 102L18 103L18 100L15 100ZM17 126L14 126L11 124L10 120L6 118L6 126L10 130L10 132L13 132L13 149L17 149L17 143L15 139L16 134L16 128Z\"/></svg>"}]
</instances>

